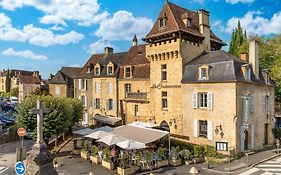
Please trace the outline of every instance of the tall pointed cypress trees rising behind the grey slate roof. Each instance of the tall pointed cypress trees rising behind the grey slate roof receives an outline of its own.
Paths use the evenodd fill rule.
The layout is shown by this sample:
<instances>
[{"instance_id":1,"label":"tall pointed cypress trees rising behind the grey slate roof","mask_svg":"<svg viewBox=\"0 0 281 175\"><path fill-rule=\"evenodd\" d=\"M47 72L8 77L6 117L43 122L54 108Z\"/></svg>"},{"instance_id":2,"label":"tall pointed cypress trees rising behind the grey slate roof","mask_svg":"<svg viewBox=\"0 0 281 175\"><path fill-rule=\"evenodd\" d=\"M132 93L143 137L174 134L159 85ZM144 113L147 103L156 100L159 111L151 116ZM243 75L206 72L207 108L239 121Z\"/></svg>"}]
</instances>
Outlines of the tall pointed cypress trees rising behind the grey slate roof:
<instances>
[{"instance_id":1,"label":"tall pointed cypress trees rising behind the grey slate roof","mask_svg":"<svg viewBox=\"0 0 281 175\"><path fill-rule=\"evenodd\" d=\"M228 52L239 57L241 53L247 52L247 50L247 33L246 30L243 33L240 21L238 20L237 28L232 31Z\"/></svg>"}]
</instances>

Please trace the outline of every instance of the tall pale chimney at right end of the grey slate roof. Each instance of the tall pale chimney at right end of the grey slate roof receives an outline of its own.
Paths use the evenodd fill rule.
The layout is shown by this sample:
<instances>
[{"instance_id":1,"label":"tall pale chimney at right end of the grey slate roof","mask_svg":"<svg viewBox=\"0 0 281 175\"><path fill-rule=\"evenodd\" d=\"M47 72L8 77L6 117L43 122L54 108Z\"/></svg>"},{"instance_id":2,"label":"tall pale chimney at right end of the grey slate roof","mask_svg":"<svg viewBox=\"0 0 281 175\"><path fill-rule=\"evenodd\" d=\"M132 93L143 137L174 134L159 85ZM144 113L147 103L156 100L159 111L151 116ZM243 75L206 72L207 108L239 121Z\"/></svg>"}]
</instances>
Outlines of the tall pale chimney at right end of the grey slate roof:
<instances>
[{"instance_id":1,"label":"tall pale chimney at right end of the grey slate roof","mask_svg":"<svg viewBox=\"0 0 281 175\"><path fill-rule=\"evenodd\" d=\"M256 79L259 79L259 42L257 40L250 41L249 63L252 65Z\"/></svg>"}]
</instances>

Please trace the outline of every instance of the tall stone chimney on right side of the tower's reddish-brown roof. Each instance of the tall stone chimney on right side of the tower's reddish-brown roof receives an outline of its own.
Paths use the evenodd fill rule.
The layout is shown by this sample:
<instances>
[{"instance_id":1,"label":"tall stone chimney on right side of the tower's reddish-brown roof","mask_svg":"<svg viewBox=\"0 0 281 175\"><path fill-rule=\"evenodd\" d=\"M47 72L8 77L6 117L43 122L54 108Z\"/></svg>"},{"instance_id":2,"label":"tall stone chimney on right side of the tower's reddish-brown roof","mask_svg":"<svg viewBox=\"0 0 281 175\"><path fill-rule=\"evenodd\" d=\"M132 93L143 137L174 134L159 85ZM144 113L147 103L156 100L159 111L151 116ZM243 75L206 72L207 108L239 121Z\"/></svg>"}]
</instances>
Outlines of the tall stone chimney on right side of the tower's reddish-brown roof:
<instances>
[{"instance_id":1,"label":"tall stone chimney on right side of the tower's reddish-brown roof","mask_svg":"<svg viewBox=\"0 0 281 175\"><path fill-rule=\"evenodd\" d=\"M211 41L210 41L210 14L204 9L198 10L199 15L199 30L204 37L203 46L205 51L211 51Z\"/></svg>"}]
</instances>

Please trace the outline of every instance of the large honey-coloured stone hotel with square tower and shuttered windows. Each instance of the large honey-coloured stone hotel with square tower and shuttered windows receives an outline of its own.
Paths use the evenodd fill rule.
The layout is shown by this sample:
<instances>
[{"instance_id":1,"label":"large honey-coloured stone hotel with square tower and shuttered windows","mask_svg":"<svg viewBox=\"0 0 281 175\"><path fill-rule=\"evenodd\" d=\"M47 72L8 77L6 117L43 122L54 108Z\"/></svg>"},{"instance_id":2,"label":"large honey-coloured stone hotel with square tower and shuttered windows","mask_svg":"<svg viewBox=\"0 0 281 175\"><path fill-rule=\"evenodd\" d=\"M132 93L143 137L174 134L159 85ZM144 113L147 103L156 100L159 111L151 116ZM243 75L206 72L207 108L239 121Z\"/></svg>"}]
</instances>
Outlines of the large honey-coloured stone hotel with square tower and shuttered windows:
<instances>
[{"instance_id":1,"label":"large honey-coloured stone hotel with square tower and shuttered windows","mask_svg":"<svg viewBox=\"0 0 281 175\"><path fill-rule=\"evenodd\" d=\"M169 1L143 41L135 36L127 52L106 48L85 64L74 85L83 124L149 122L225 153L272 143L274 84L259 67L256 41L249 56L228 54L208 11Z\"/></svg>"}]
</instances>

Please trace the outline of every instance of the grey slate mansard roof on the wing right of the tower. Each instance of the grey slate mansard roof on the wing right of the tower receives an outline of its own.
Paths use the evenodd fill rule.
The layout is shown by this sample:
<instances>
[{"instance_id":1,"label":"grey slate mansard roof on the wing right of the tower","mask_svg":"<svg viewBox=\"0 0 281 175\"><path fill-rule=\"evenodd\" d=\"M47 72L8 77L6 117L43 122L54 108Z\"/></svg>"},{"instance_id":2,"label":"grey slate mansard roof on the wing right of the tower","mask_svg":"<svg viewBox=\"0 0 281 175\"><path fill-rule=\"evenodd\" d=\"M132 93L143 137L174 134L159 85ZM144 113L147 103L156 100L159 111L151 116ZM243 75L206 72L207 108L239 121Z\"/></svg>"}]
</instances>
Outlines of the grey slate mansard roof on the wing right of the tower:
<instances>
[{"instance_id":1,"label":"grey slate mansard roof on the wing right of the tower","mask_svg":"<svg viewBox=\"0 0 281 175\"><path fill-rule=\"evenodd\" d=\"M251 79L247 80L242 72L242 67L248 64L234 55L225 52L224 50L212 51L204 53L192 61L187 63L183 75L183 83L205 83L205 82L248 82L265 84L262 71L260 69L259 79L256 79L251 70ZM200 65L208 65L209 79L199 80L198 67ZM270 85L274 83L270 80Z\"/></svg>"}]
</instances>

